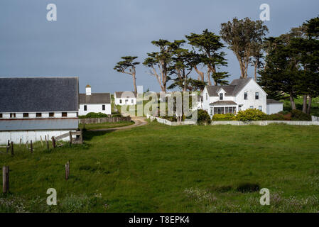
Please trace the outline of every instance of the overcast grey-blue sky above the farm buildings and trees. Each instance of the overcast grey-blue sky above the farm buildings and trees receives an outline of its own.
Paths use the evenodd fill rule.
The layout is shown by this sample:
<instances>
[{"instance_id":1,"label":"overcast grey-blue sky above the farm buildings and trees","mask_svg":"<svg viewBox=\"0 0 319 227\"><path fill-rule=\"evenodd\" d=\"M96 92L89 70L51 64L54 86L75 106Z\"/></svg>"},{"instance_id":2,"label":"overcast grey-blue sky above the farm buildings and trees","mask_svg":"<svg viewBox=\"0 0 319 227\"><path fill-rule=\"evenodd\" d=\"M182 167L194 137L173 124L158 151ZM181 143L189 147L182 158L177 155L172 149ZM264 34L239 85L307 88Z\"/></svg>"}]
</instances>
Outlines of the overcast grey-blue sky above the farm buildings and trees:
<instances>
[{"instance_id":1,"label":"overcast grey-blue sky above the farm buildings and trees","mask_svg":"<svg viewBox=\"0 0 319 227\"><path fill-rule=\"evenodd\" d=\"M46 6L56 4L58 21L47 21ZM259 6L269 4L269 35L318 16L318 0L1 0L0 77L77 76L80 92L131 91L128 74L113 70L121 56L143 62L156 51L151 40L178 40L208 28L219 33L220 23L234 17L259 19ZM229 80L240 75L234 54L227 52ZM159 85L143 65L137 84L158 92ZM195 72L194 77L197 77ZM249 76L253 76L252 69Z\"/></svg>"}]
</instances>

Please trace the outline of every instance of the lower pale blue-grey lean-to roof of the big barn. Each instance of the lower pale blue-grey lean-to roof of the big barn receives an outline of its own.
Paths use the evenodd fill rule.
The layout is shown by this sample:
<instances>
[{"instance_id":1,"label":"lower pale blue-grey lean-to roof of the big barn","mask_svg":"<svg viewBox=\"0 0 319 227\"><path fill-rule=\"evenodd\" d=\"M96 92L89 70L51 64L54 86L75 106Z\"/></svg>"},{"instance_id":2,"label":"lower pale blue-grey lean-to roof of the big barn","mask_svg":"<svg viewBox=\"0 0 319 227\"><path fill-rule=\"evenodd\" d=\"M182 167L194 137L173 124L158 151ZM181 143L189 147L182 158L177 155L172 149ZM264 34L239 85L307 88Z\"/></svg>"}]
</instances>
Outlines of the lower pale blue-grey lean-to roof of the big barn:
<instances>
[{"instance_id":1,"label":"lower pale blue-grey lean-to roof of the big barn","mask_svg":"<svg viewBox=\"0 0 319 227\"><path fill-rule=\"evenodd\" d=\"M78 126L77 118L0 120L0 131L70 130Z\"/></svg>"}]
</instances>

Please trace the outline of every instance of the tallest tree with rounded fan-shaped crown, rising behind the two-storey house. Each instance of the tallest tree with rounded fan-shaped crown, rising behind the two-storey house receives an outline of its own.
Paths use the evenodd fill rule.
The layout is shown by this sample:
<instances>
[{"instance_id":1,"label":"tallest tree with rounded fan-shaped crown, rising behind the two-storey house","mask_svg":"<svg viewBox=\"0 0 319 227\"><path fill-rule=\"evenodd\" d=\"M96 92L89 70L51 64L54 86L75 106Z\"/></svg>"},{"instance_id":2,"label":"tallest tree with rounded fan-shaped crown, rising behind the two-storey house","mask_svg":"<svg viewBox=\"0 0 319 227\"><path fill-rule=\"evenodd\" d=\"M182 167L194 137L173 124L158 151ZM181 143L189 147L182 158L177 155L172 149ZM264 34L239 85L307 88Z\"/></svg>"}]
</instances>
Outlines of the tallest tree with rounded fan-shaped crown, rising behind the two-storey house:
<instances>
[{"instance_id":1,"label":"tallest tree with rounded fan-shaped crown, rising behind the two-storey house","mask_svg":"<svg viewBox=\"0 0 319 227\"><path fill-rule=\"evenodd\" d=\"M229 45L228 48L237 57L241 78L247 78L248 66L254 56L254 50L256 47L257 50L260 48L259 45L267 32L268 28L263 21L252 21L249 18L242 20L233 18L232 21L221 24L220 34Z\"/></svg>"}]
</instances>

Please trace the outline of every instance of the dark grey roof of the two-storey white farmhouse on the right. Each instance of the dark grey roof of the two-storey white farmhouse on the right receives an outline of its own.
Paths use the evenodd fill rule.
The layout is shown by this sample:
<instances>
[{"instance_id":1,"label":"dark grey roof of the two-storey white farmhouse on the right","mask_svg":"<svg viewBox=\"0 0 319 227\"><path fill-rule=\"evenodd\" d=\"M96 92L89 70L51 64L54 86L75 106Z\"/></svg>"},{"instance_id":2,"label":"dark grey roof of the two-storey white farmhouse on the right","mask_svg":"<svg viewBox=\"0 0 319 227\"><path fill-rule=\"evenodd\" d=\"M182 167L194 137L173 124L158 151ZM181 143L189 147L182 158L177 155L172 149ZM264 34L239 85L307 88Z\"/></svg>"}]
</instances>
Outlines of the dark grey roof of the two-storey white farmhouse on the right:
<instances>
[{"instance_id":1,"label":"dark grey roof of the two-storey white farmhouse on the right","mask_svg":"<svg viewBox=\"0 0 319 227\"><path fill-rule=\"evenodd\" d=\"M206 86L207 92L210 96L218 96L219 89L225 90L225 96L236 96L252 78L247 79L234 79L229 85L223 86Z\"/></svg>"}]
</instances>

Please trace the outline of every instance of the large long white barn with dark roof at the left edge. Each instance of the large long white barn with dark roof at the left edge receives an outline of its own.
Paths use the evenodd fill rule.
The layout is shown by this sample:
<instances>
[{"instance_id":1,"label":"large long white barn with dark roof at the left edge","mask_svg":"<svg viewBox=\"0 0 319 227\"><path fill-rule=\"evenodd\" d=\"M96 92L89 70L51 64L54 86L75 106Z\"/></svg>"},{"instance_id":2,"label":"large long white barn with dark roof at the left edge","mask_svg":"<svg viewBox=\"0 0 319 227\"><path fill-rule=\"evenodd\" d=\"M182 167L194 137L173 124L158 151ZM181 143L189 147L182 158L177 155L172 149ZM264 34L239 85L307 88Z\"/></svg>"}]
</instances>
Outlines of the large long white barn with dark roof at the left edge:
<instances>
[{"instance_id":1,"label":"large long white barn with dark roof at the left edge","mask_svg":"<svg viewBox=\"0 0 319 227\"><path fill-rule=\"evenodd\" d=\"M0 144L75 131L78 110L78 77L0 78Z\"/></svg>"}]
</instances>

